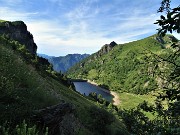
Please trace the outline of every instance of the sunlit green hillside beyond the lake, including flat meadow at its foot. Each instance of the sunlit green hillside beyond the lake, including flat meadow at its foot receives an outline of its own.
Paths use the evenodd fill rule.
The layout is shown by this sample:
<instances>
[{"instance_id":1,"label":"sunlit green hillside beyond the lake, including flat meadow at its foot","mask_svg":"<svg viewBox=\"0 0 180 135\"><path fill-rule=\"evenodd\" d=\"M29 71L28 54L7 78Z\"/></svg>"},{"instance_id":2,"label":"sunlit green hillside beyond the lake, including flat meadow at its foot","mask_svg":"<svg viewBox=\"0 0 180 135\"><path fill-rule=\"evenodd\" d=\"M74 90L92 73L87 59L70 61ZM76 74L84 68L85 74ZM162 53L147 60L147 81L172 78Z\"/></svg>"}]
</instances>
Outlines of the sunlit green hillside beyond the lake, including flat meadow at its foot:
<instances>
[{"instance_id":1,"label":"sunlit green hillside beyond the lake, including flat meadow at its foot","mask_svg":"<svg viewBox=\"0 0 180 135\"><path fill-rule=\"evenodd\" d=\"M104 47L108 46L106 44L98 52L71 67L67 75L110 90L118 98L115 105L119 108L132 109L143 101L154 104L155 95L162 84L157 76L149 72L149 68L153 67L148 65L147 59L154 54L164 55L168 51L164 48L177 41L171 35L161 39L161 42L157 39L157 35L153 35L127 44L115 43L107 52L104 51Z\"/></svg>"}]
</instances>

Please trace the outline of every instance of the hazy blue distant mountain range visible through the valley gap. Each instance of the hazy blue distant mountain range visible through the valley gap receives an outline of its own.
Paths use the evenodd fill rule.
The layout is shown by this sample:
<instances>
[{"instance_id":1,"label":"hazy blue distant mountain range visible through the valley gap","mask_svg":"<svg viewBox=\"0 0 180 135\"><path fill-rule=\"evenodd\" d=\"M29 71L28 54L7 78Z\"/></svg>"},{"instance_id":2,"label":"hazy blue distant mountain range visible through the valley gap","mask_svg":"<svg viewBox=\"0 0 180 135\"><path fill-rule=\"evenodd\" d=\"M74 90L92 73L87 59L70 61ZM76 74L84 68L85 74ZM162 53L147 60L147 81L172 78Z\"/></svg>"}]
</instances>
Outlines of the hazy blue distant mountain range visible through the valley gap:
<instances>
[{"instance_id":1,"label":"hazy blue distant mountain range visible through the valley gap","mask_svg":"<svg viewBox=\"0 0 180 135\"><path fill-rule=\"evenodd\" d=\"M70 67L89 56L89 54L68 54L59 57L48 56L46 54L38 55L48 59L48 61L53 65L53 69L57 72L61 71L62 73L66 72Z\"/></svg>"}]
</instances>

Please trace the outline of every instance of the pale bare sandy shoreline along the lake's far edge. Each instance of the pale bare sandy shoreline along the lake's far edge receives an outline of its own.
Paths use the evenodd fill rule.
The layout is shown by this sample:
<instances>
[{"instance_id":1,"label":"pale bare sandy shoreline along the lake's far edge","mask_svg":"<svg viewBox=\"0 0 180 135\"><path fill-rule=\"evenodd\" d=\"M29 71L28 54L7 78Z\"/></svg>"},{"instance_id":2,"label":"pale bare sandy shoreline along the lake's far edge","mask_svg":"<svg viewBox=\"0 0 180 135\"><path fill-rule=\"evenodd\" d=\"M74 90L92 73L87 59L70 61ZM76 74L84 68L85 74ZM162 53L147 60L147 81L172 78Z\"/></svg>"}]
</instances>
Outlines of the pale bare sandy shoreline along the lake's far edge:
<instances>
[{"instance_id":1,"label":"pale bare sandy shoreline along the lake's far edge","mask_svg":"<svg viewBox=\"0 0 180 135\"><path fill-rule=\"evenodd\" d=\"M88 83L92 84L92 85L95 85L95 86L98 86L97 83L95 83L94 81L91 81L91 80L87 80ZM99 87L99 86L98 86ZM110 91L110 90L106 90L104 88L102 88L102 90L104 92L107 92L107 93L110 93L111 95L113 95L113 104L114 105L119 105L120 104L120 99L119 99L119 96L117 94L117 92L115 91Z\"/></svg>"}]
</instances>

